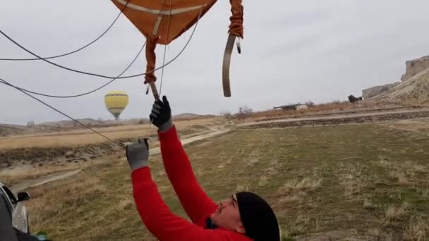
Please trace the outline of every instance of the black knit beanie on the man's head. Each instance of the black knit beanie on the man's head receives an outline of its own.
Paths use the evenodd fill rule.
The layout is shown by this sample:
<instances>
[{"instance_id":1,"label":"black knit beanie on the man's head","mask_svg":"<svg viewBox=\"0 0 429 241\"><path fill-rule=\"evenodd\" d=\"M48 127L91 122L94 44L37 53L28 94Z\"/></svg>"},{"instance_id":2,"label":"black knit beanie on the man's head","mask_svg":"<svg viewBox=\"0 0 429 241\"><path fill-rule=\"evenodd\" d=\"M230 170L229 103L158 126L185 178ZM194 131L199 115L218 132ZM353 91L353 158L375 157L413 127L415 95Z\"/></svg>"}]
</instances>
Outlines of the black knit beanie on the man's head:
<instances>
[{"instance_id":1,"label":"black knit beanie on the man's head","mask_svg":"<svg viewBox=\"0 0 429 241\"><path fill-rule=\"evenodd\" d=\"M255 241L279 241L279 223L271 206L252 192L236 194L246 236Z\"/></svg>"}]
</instances>

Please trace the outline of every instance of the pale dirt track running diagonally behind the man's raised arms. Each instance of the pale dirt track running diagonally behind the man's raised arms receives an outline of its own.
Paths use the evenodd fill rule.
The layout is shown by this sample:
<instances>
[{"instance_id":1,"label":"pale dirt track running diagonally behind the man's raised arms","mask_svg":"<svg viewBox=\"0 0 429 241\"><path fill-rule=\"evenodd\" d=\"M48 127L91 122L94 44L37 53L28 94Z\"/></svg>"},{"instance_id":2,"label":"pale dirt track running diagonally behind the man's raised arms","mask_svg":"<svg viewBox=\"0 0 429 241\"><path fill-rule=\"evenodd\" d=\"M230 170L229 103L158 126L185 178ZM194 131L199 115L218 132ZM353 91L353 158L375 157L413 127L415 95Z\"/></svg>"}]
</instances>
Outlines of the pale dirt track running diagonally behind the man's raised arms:
<instances>
[{"instance_id":1,"label":"pale dirt track running diagonally behind the man's raised arms","mask_svg":"<svg viewBox=\"0 0 429 241\"><path fill-rule=\"evenodd\" d=\"M210 132L210 133L205 134L205 135L197 135L194 137L189 137L187 139L181 140L181 142L183 145L186 145L186 144L190 144L192 142L196 142L199 140L204 140L204 139L214 137L217 135L222 135L226 132L229 132L229 129L216 130L214 132ZM150 152L150 155L156 155L156 154L159 154L161 151L160 151L159 147L155 147L155 148L150 149L149 152ZM81 171L81 169L78 169L75 171L62 171L60 173L54 173L51 175L47 175L43 178L37 178L35 180L34 179L33 180L25 180L21 183L13 185L11 187L11 190L12 190L12 192L15 192L15 193L20 192L20 191L28 189L30 187L37 187L40 185L44 185L45 183L50 183L50 182L53 182L56 180L62 180L62 179L69 178L73 175L80 173L80 171Z\"/></svg>"}]
</instances>

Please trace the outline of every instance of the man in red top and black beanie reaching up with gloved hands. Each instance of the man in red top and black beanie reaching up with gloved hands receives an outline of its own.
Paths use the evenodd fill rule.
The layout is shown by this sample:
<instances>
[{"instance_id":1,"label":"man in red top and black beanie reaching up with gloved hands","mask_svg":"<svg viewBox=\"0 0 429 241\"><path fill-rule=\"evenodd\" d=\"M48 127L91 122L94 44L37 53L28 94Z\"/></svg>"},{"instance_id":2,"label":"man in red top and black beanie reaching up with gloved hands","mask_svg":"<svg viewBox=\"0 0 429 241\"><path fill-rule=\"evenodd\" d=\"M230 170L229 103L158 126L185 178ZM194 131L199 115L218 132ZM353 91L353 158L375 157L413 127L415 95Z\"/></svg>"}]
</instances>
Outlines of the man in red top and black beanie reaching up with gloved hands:
<instances>
[{"instance_id":1,"label":"man in red top and black beanie reaching up with gloved hands","mask_svg":"<svg viewBox=\"0 0 429 241\"><path fill-rule=\"evenodd\" d=\"M172 214L163 202L147 166L147 140L126 148L133 197L138 213L160 241L279 241L279 225L271 207L252 192L238 192L219 204L198 184L191 162L171 121L167 97L155 101L150 119L158 128L164 168L186 214Z\"/></svg>"}]
</instances>

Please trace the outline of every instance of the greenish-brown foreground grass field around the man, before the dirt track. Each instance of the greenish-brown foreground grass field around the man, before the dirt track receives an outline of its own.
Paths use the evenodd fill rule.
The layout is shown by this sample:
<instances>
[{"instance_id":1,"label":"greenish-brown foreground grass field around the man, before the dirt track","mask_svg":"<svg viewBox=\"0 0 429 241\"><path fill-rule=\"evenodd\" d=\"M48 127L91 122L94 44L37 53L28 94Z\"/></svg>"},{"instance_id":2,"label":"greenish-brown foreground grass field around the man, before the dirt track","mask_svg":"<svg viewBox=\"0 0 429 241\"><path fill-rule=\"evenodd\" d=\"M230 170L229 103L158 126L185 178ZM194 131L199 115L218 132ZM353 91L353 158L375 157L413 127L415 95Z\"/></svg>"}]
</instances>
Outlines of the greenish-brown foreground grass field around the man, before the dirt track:
<instances>
[{"instance_id":1,"label":"greenish-brown foreground grass field around the man, before the dirt track","mask_svg":"<svg viewBox=\"0 0 429 241\"><path fill-rule=\"evenodd\" d=\"M198 180L219 200L258 192L283 240L428 240L429 137L389 124L236 130L186 147ZM164 200L185 216L162 169ZM73 178L29 190L33 231L54 240L155 240L140 221L123 154Z\"/></svg>"}]
</instances>

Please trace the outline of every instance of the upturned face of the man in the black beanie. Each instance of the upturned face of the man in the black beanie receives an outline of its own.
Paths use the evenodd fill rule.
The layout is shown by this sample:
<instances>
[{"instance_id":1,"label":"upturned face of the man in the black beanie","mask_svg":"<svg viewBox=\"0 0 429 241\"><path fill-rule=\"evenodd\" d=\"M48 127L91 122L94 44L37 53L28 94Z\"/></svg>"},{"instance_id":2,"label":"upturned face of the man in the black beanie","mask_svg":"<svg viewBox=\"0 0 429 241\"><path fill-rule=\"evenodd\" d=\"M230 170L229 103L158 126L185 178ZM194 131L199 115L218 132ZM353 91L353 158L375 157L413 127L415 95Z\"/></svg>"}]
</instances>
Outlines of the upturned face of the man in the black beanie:
<instances>
[{"instance_id":1,"label":"upturned face of the man in the black beanie","mask_svg":"<svg viewBox=\"0 0 429 241\"><path fill-rule=\"evenodd\" d=\"M240 211L238 210L237 197L233 195L229 199L219 202L217 210L210 216L214 225L238 233L246 233L241 223Z\"/></svg>"}]
</instances>

